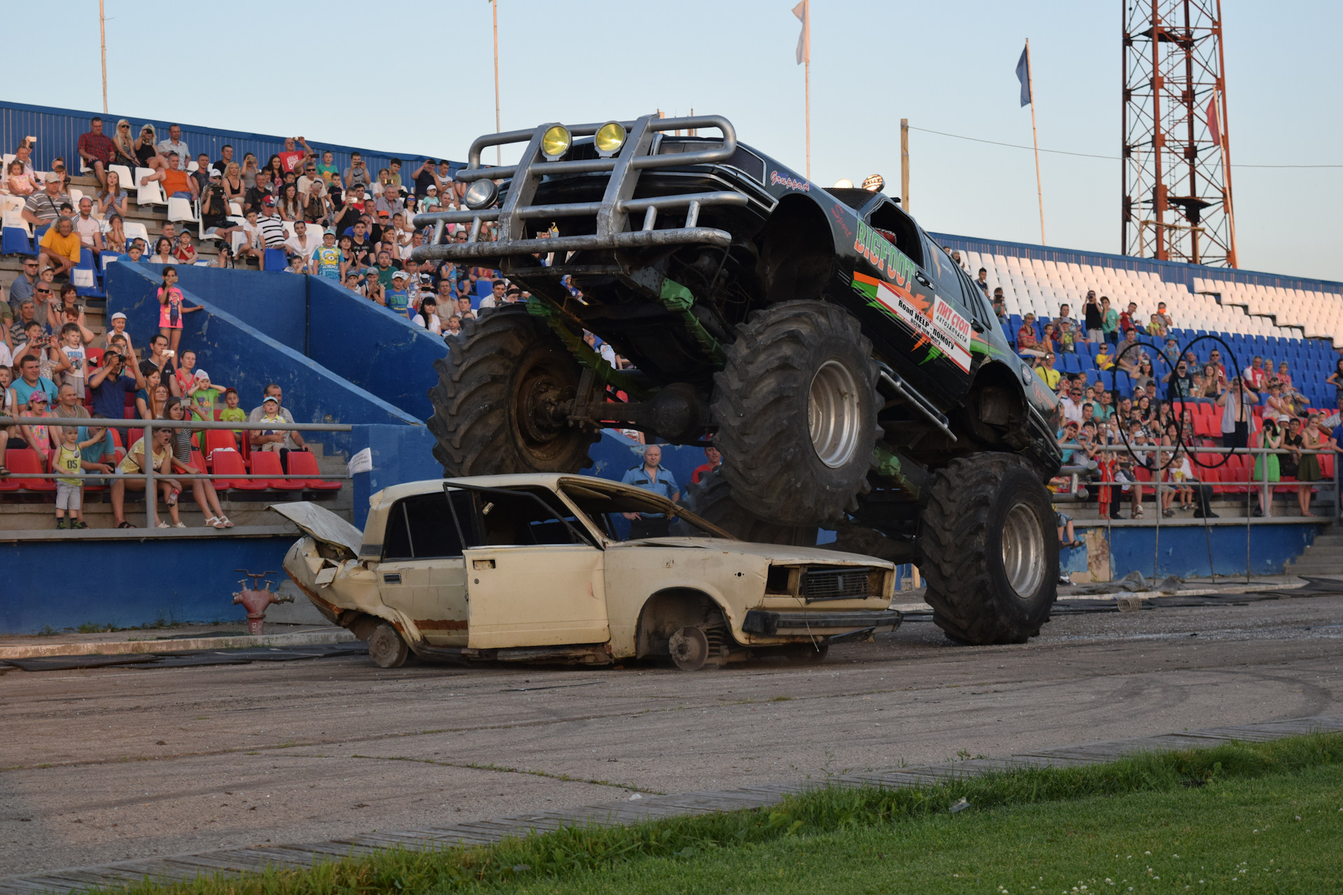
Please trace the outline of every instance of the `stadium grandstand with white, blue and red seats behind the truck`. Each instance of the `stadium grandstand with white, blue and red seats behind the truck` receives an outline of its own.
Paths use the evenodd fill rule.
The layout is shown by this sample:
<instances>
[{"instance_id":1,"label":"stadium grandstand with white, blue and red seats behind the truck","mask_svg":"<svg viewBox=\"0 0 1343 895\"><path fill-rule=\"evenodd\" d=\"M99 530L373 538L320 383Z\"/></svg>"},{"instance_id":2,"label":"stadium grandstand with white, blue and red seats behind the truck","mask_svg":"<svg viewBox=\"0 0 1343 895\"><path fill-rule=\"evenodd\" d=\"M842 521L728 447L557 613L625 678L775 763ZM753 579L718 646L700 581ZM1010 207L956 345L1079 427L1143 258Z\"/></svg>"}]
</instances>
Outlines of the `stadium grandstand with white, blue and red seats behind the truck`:
<instances>
[{"instance_id":1,"label":"stadium grandstand with white, blue and red seats behind the truck","mask_svg":"<svg viewBox=\"0 0 1343 895\"><path fill-rule=\"evenodd\" d=\"M97 413L94 389L86 388L86 384L99 373L103 352L115 338L118 327L124 327L132 339L133 358L129 364L141 370L163 369L167 390L171 397L188 399L192 419L230 419L223 416L223 394L211 394L211 389L219 386L214 388L219 392L234 386L240 408L250 419L261 420L266 413L263 392L282 385L283 415L289 419L313 424L336 420L348 424L352 432L308 432L306 443L304 437L274 432L266 436L285 445L281 459L286 454L305 455L299 458L299 467L294 468L287 460L281 464L274 462L274 456L266 456L269 450L263 443L254 443L251 436L242 436L238 441L240 456L236 459L240 463L227 456L227 450L223 454L214 450L220 445L219 435L200 437L191 448L195 454L189 455L188 464L216 475L257 478L219 479L214 486L218 505L205 499L200 502L199 511L183 506L180 513L175 513L175 518L180 517L181 525L188 529L218 529L220 521L231 519L234 530L218 531L218 537L236 537L239 533L250 533L255 538L271 537L281 546L270 549L279 549L279 556L283 553L281 547L291 539L290 530L274 525L275 517L266 510L267 502L322 499L360 525L361 507L367 506L372 490L398 480L438 475L430 456L431 436L422 425L430 415L424 394L434 381L432 360L442 356L445 339L457 337L462 318L497 302L521 298L516 287L510 287L496 271L457 268L446 263L410 270L414 264L410 260L411 248L426 238L426 233L414 231L414 215L423 208L458 205L453 172L461 164L441 156L392 154L299 138L179 126L164 121L132 122L105 115L105 133L122 130L120 125L125 121L128 127L122 134L138 136L118 144L133 158L120 157L99 168L85 164L91 118L91 113L0 103L0 149L4 150L5 173L0 181L4 225L0 287L8 299L0 303L0 313L7 315L0 354L9 360L5 372L0 373L8 377L9 386L5 413L39 417ZM38 137L35 145L27 141L28 136ZM169 161L179 148L184 150L181 156ZM122 161L133 164L122 165ZM220 166L223 170L219 170ZM185 193L180 189L181 177L164 173L179 169L192 178ZM267 169L275 170L275 176L267 176ZM118 176L125 196L109 195L107 181L99 180L99 174L107 176L103 172ZM226 196L227 208L211 209L207 196L218 197L215 191L224 181L234 184ZM165 185L175 189L165 191ZM59 197L62 203L68 201L70 208L51 209L52 213L35 217L31 213L34 197L40 204L43 193ZM251 212L258 209L261 213L254 217ZM70 264L59 264L59 259L54 259L60 254L60 246L52 242L48 231L55 224L52 232L59 232L59 219L66 216L71 219L73 232L82 240L85 251L78 252ZM338 276L332 276L330 271L320 274L313 260L314 248L321 244L326 228L333 228L342 240L355 238L353 250L345 255L348 267L342 267ZM305 235L301 229L309 232ZM1226 381L1213 373L1202 376L1198 368L1207 369L1210 364L1219 365L1219 373L1226 377L1244 372L1248 378L1256 378L1258 389L1249 399L1254 404L1252 437L1258 437L1265 416L1295 416L1304 424L1313 412L1316 431L1324 436L1339 425L1343 376L1335 373L1340 364L1339 348L1343 348L1340 283L972 236L931 235L972 279L982 279L986 295L994 297L1001 290L1002 326L1010 338L1026 337L1029 345L1014 344L1023 356L1038 357L1033 361L1039 365L1037 372L1058 389L1065 407L1069 401L1073 408L1084 401L1093 407L1095 416L1081 420L1093 424L1095 435L1089 444L1078 445L1073 440L1076 435L1066 427L1060 431L1061 443L1074 456L1073 463L1082 455L1096 458L1092 451L1096 445L1115 445L1123 440L1115 431L1109 408L1117 409L1120 401L1128 400L1135 407L1143 405L1144 432L1154 439L1154 445L1160 444L1170 415L1183 411L1189 411L1185 417L1189 425L1182 437L1189 445L1219 445L1226 433L1221 427L1218 399L1219 389L1222 393L1226 390ZM163 242L165 236L167 243ZM140 263L126 264L137 240L141 240ZM90 246L99 247L99 251L87 251ZM160 271L167 264L179 270L185 322L177 333L181 341L175 345L175 356L164 362L161 349L154 349L152 339L158 333L154 325L160 313L154 294L161 283ZM44 266L54 270L39 270ZM285 270L309 275L273 275ZM66 293L71 287L74 295L68 297L67 307ZM1115 311L1115 318L1104 323L1100 337L1092 339L1086 331L1089 321L1095 322L1088 314L1088 294L1097 303L1108 299L1108 307ZM395 301L398 297L400 303ZM438 299L438 314L427 310L424 302L430 297ZM24 302L34 298L39 301L26 309ZM207 313L187 313L196 307ZM121 317L126 318L125 323L118 319ZM1069 322L1066 326L1065 318ZM31 322L38 323L39 338L51 339L44 350L28 345L34 334L24 323ZM62 352L67 357L82 357L82 370L63 366L60 353L55 350L66 338L67 323L74 325L77 335L70 337L71 350ZM1128 342L1138 348L1125 357ZM1167 374L1174 373L1171 365L1186 352L1193 353L1186 360L1194 364L1189 377L1194 388L1182 386L1176 396L1179 400L1170 405L1166 399L1171 393L1164 381ZM39 396L36 404L32 403L34 390L23 388L24 370L21 365L13 365L15 358L24 353L42 356L42 376L54 380L54 386L62 382L75 386L78 409L70 399L62 397L64 389L54 389L46 401ZM1116 357L1116 353L1120 356ZM189 368L183 366L187 354L195 354L197 369L210 370L212 381L204 384L210 394L207 401L193 399L201 384L192 380ZM604 356L622 362L608 349ZM83 376L77 376L77 372ZM1057 385L1052 372L1058 374ZM1257 380L1260 376L1264 376L1262 381ZM1277 381L1283 390L1272 392L1270 381ZM136 392L129 389L124 407L118 405L122 419L154 413L158 403L153 390L140 386L138 394ZM1108 397L1103 399L1103 393ZM44 407L39 407L42 404ZM106 405L102 409L107 409ZM9 450L0 454L0 464L13 475L0 478L0 531L4 533L0 541L7 537L17 541L27 538L31 546L42 538L66 534L52 530L58 526L52 502L56 501L59 478L52 462L60 452L60 445L51 439L55 425L55 421L12 425L5 432ZM627 466L629 451L637 447L629 435L641 437L638 433L607 433L603 444L611 454L598 462L595 470L599 474ZM137 436L130 429L109 433L102 447L87 448L83 456L109 467L122 463ZM344 476L345 462L361 447L371 448L383 460L368 476ZM0 445L0 450L4 447ZM261 463L257 462L258 455L262 455ZM1320 510L1316 515L1338 515L1336 484L1328 480L1336 478L1332 459L1323 456L1320 480L1304 487L1303 515L1308 506ZM678 448L666 455L669 468L684 478L689 478L690 470L700 463L702 456L693 448ZM1211 509L1248 525L1252 509L1249 495L1254 490L1248 484L1248 458L1233 458L1233 462L1215 470L1199 462L1197 466L1199 480L1214 484L1217 499ZM19 472L32 478L23 478ZM1081 476L1086 478L1095 479L1096 475ZM1136 478L1150 482L1151 474L1139 470ZM1281 482L1292 482L1292 478L1284 474ZM1073 483L1076 486L1077 480ZM1096 487L1095 482L1088 488L1084 482L1072 494L1080 499L1069 513L1076 514L1080 525L1103 517L1107 527L1117 525L1112 521L1117 519L1115 507L1121 498L1115 494L1107 498L1111 490L1108 486ZM1279 484L1277 490L1279 503L1296 502L1295 483ZM117 534L115 527L124 519L120 510L109 506L107 488L95 483L86 486L85 491L83 518L87 525L111 530L107 537ZM1151 487L1140 486L1139 495L1142 499L1136 502L1135 511L1123 523L1150 525L1138 521L1142 518L1142 503L1162 498ZM1315 502L1308 503L1309 499ZM1108 506L1103 503L1107 501ZM145 509L142 503L136 503L126 517L133 522L125 525L145 525L149 521ZM1265 515L1284 515L1281 507L1266 509L1270 511ZM163 518L167 510L160 509L158 513ZM1174 513L1171 510L1164 515ZM1285 511L1285 515L1295 514L1295 507ZM1276 546L1265 547L1266 551L1253 561L1244 556L1246 538L1241 534L1237 543L1242 556L1233 560L1233 565L1240 564L1242 570L1280 570L1283 562L1297 557L1315 538L1313 527L1295 527L1303 529L1303 533L1280 537ZM1305 533L1305 529L1309 531ZM89 538L95 533L73 534ZM141 531L138 537L144 534ZM1127 561L1119 541L1111 545L1111 556L1115 569L1123 574ZM261 553L255 564L265 566L275 561L278 557ZM1078 561L1084 569L1085 560ZM1078 561L1070 568L1078 570ZM1213 568L1218 562L1221 560L1209 558ZM227 565L231 569L235 564ZM125 598L134 601L141 597L130 589ZM191 611L183 612L189 615Z\"/></svg>"}]
</instances>

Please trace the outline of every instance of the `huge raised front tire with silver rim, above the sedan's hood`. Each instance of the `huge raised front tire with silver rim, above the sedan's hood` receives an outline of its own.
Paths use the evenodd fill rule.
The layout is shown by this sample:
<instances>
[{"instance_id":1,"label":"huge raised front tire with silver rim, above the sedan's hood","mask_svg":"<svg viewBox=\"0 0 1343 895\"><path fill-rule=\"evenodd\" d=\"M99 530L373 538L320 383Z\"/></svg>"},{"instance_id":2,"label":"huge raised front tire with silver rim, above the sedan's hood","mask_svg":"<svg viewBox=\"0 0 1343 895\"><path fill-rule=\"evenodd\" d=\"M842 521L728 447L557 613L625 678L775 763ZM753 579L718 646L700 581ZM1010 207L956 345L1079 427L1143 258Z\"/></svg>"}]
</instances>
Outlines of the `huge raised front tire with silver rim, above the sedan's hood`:
<instances>
[{"instance_id":1,"label":"huge raised front tire with silver rim, above the sedan's hood","mask_svg":"<svg viewBox=\"0 0 1343 895\"><path fill-rule=\"evenodd\" d=\"M872 342L847 311L782 302L737 325L714 374L714 443L745 510L815 526L857 507L880 436Z\"/></svg>"}]
</instances>

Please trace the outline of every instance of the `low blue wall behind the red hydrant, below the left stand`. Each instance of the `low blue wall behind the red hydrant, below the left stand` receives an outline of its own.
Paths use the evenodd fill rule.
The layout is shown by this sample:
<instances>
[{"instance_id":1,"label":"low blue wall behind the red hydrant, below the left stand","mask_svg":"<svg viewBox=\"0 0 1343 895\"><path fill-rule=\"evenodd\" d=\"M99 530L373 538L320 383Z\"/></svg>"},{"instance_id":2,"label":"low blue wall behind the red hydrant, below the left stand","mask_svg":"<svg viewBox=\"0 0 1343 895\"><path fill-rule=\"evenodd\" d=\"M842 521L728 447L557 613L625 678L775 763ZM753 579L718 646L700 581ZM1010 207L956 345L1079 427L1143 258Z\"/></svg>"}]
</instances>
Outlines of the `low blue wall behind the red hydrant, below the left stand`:
<instances>
[{"instance_id":1,"label":"low blue wall behind the red hydrant, below the left stand","mask_svg":"<svg viewBox=\"0 0 1343 895\"><path fill-rule=\"evenodd\" d=\"M0 543L0 568L5 570L0 633L82 624L129 628L158 620L243 621L247 612L232 604L242 578L234 569L278 570L271 576L278 588L287 580L281 564L293 542L293 537L219 537ZM98 585L52 586L51 569ZM189 572L146 573L153 569Z\"/></svg>"}]
</instances>

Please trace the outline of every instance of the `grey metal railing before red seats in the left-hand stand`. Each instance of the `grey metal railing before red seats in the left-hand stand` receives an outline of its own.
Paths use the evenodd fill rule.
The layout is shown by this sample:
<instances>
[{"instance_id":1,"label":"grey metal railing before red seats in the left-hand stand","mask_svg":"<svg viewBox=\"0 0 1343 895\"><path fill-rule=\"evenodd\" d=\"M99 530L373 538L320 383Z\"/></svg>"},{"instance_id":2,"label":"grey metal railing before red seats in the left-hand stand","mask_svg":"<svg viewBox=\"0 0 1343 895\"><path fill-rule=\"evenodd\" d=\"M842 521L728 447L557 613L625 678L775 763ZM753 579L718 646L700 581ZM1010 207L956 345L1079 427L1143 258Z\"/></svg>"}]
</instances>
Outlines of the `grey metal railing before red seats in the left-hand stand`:
<instances>
[{"instance_id":1,"label":"grey metal railing before red seats in the left-hand stand","mask_svg":"<svg viewBox=\"0 0 1343 895\"><path fill-rule=\"evenodd\" d=\"M247 420L230 423L218 420L107 420L95 419L89 416L0 416L0 428L8 428L11 425L44 425L47 428L90 428L90 429L144 429L145 440L145 464L141 467L141 472L11 472L5 479L120 479L122 482L144 482L145 483L145 525L146 527L156 527L158 523L158 496L156 494L154 482L157 479L177 479L179 482L195 482L195 480L216 480L227 479L235 482L238 479L274 479L274 475L234 475L234 474L214 474L214 472L169 472L163 474L153 468L153 437L154 429L189 429L192 432L205 431L205 429L227 429L230 432L244 431L244 432L352 432L353 425L345 423L251 423ZM125 441L126 439L124 439ZM130 451L130 444L125 445L125 450ZM168 445L168 452L173 456L173 445ZM39 451L40 454L40 451ZM208 458L207 458L208 460ZM169 468L171 464L169 464ZM316 475L301 475L294 476L285 474L282 478L297 478L297 479L348 479L348 472L330 474L320 472Z\"/></svg>"}]
</instances>

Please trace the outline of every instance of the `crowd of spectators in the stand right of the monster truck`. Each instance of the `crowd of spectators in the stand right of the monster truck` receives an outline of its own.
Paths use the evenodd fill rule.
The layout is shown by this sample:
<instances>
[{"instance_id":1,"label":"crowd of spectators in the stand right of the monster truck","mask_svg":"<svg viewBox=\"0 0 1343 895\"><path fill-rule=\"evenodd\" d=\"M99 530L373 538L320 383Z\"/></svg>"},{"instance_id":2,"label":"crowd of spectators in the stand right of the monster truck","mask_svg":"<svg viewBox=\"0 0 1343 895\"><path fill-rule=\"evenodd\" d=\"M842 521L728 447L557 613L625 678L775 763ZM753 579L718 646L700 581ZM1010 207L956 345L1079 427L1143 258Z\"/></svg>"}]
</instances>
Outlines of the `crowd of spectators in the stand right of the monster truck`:
<instances>
[{"instance_id":1,"label":"crowd of spectators in the stand right of the monster truck","mask_svg":"<svg viewBox=\"0 0 1343 895\"><path fill-rule=\"evenodd\" d=\"M992 303L1006 323L1001 297ZM1144 494L1154 495L1156 483L1162 483L1158 511L1163 517L1179 511L1193 511L1195 518L1215 517L1210 507L1211 486L1201 479L1217 480L1205 471L1221 468L1225 455L1199 454L1195 448L1253 447L1284 451L1256 456L1253 478L1264 484L1257 487L1254 515L1272 515L1269 483L1283 478L1300 483L1296 487L1300 514L1313 515L1311 490L1324 475L1319 455L1308 451L1343 452L1343 358L1327 378L1336 389L1339 409L1322 412L1309 408L1307 397L1293 386L1287 361L1256 356L1244 369L1228 370L1221 349L1213 349L1203 362L1193 350L1182 353L1167 335L1171 321L1164 305L1143 329L1135 305L1116 313L1108 299L1089 293L1084 307L1084 339L1078 339L1070 309L1064 305L1058 317L1042 325L1026 314L1015 333L1015 345L1057 394L1061 409L1057 437L1064 464L1091 471L1103 514L1120 518L1127 502L1129 518L1143 518ZM1140 334L1148 339L1139 341ZM1076 352L1078 341L1100 345L1095 361L1101 381L1058 369L1060 357ZM1131 396L1107 386L1104 376L1111 372L1128 376ZM1214 409L1215 421L1203 431L1195 424L1199 404Z\"/></svg>"}]
</instances>

